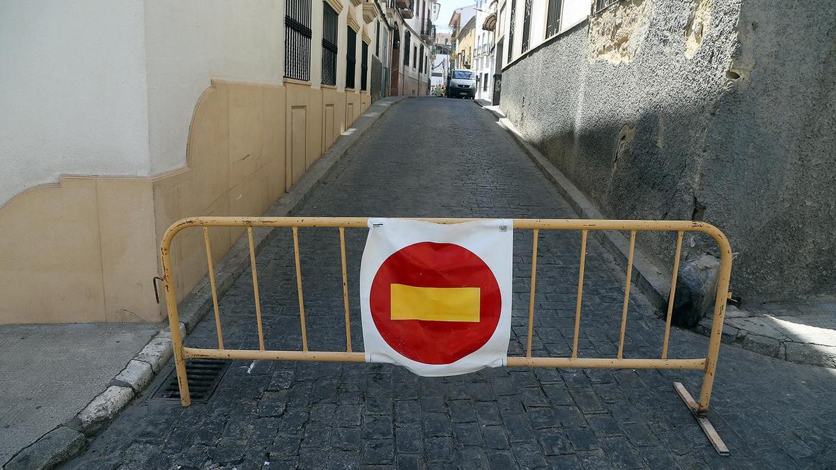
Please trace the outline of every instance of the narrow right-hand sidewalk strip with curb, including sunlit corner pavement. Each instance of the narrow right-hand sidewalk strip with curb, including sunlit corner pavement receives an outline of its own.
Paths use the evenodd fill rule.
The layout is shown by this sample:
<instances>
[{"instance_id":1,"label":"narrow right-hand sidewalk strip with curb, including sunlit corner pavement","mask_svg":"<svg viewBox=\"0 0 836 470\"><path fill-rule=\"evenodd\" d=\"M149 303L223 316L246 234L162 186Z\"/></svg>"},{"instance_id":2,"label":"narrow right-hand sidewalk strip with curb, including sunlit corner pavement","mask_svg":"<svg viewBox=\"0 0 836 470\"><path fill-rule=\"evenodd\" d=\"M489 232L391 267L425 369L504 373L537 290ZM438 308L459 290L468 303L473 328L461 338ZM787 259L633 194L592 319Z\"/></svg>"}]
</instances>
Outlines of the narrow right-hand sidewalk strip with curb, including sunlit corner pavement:
<instances>
[{"instance_id":1,"label":"narrow right-hand sidewalk strip with curb, including sunlit corner pavement","mask_svg":"<svg viewBox=\"0 0 836 470\"><path fill-rule=\"evenodd\" d=\"M525 151L540 171L554 183L558 192L573 210L583 218L603 219L604 214L584 196L563 172L523 138L510 120L486 100L475 100L476 104L491 112L497 123L507 130L517 144ZM630 243L619 232L593 232L624 269L627 268L627 254ZM670 294L670 275L663 273L650 258L634 250L633 281L642 294L656 307L656 314L664 318L667 299ZM786 310L786 309L785 309ZM805 324L805 315L790 309L791 313L770 314L769 312L747 311L729 305L723 322L722 341L750 350L761 355L794 362L796 364L818 365L836 369L836 331ZM833 309L836 312L836 309ZM827 314L823 316L828 317ZM785 319L787 318L787 319ZM795 321L788 321L794 319ZM809 322L807 322L809 323ZM706 316L691 329L704 336L711 336L711 317Z\"/></svg>"}]
</instances>

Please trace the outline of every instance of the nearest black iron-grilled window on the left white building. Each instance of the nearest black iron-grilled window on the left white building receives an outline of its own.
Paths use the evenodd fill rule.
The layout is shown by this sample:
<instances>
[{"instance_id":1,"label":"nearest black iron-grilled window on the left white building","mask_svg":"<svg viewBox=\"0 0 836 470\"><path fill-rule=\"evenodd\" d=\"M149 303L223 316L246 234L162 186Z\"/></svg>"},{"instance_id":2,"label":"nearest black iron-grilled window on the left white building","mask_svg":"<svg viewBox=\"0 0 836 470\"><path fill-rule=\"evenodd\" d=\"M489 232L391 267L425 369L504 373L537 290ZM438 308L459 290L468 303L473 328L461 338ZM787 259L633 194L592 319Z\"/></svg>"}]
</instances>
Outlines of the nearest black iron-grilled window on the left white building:
<instances>
[{"instance_id":1,"label":"nearest black iron-grilled window on the left white building","mask_svg":"<svg viewBox=\"0 0 836 470\"><path fill-rule=\"evenodd\" d=\"M311 1L286 0L284 15L284 76L311 79Z\"/></svg>"}]
</instances>

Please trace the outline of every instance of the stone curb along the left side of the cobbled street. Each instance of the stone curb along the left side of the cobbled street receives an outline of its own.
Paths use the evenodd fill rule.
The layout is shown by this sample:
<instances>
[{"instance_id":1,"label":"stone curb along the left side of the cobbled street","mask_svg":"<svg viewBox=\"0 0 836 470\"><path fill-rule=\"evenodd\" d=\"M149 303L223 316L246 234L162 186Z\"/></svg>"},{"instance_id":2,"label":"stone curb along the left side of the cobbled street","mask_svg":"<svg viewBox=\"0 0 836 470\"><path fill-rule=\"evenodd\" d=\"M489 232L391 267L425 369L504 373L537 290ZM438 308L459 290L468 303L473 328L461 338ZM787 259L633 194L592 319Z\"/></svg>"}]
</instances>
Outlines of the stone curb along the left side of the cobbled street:
<instances>
[{"instance_id":1,"label":"stone curb along the left side of the cobbled street","mask_svg":"<svg viewBox=\"0 0 836 470\"><path fill-rule=\"evenodd\" d=\"M264 212L264 216L287 216L305 202L314 188L339 161L365 135L375 122L391 106L405 100L405 96L390 96L370 105L349 127L354 131L340 135L334 145L305 171L304 175ZM254 249L259 253L275 236L272 227L254 227ZM232 284L250 267L249 243L246 237L238 238L222 260L215 265L215 282L220 298L232 288ZM195 329L203 316L212 309L212 288L208 276L199 282L178 305L180 333L186 335ZM48 470L58 467L75 457L87 446L89 437L110 424L110 421L127 406L140 391L150 384L166 362L171 359L171 331L161 330L145 345L125 368L115 375L102 393L95 396L84 409L71 420L38 437L23 447L3 464L3 470Z\"/></svg>"}]
</instances>

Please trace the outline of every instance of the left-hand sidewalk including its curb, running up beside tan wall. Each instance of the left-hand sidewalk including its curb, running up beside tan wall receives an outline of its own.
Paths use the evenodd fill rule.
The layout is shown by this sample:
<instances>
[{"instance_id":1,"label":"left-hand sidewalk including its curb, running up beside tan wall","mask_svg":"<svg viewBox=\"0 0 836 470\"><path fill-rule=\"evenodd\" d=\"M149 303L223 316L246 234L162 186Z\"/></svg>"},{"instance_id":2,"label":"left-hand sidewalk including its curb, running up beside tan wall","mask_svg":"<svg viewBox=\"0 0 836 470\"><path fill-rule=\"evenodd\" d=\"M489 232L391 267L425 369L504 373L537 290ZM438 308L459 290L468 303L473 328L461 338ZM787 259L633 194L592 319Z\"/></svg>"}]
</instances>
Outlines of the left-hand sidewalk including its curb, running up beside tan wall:
<instances>
[{"instance_id":1,"label":"left-hand sidewalk including its curb, running up beside tan wall","mask_svg":"<svg viewBox=\"0 0 836 470\"><path fill-rule=\"evenodd\" d=\"M331 166L363 137L380 115L404 99L395 96L376 101L264 215L285 216L293 207L303 203ZM272 233L263 228L254 232L258 253L269 242ZM242 238L215 265L218 294L223 295L232 287L235 279L248 267L247 240ZM191 332L211 305L211 291L204 279L180 305L181 334L185 334L186 330ZM64 330L76 334L64 338L61 333ZM79 331L84 334L77 333ZM6 332L12 339L19 332L29 334L19 335L21 340L5 341L3 335ZM130 336L130 340L125 335ZM10 409L8 416L3 416L3 421L0 421L0 429L16 430L12 439L0 443L0 463L4 469L53 467L73 457L86 447L88 437L110 424L110 420L140 395L152 379L165 378L167 370L163 373L161 368L171 357L171 335L167 322L0 325L0 341L3 341L0 345L0 358L3 358L0 360L0 372L11 370L5 376L13 377L9 383L14 385L9 385L7 390L0 381L0 403L13 403L15 396L22 396L21 400L26 402L32 401L33 396L44 401L43 406L33 404L35 410L44 408L43 412L23 406L14 413ZM23 347L18 345L24 342ZM4 346L10 349L8 354ZM43 355L43 363L49 365L48 369L29 365L28 358L38 357L39 354ZM8 357L12 359L8 360ZM52 388L38 389L38 384L44 381L43 377L51 376L57 378L45 383L52 384ZM36 392L26 397L25 391L32 389ZM54 389L58 391L53 392ZM49 410L58 412L46 413ZM30 416L33 412L34 419ZM29 419L32 421L25 421ZM13 456L13 461L7 462Z\"/></svg>"}]
</instances>

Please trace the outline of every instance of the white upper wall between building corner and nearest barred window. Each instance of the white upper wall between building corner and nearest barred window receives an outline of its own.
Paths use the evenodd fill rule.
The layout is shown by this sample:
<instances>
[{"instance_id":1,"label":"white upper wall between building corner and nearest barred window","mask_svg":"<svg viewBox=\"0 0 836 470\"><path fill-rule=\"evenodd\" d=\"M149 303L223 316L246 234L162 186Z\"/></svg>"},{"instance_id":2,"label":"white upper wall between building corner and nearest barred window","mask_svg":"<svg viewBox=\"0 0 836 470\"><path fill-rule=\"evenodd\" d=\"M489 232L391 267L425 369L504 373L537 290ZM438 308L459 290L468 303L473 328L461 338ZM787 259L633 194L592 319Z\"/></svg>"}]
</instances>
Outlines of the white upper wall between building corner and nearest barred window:
<instances>
[{"instance_id":1,"label":"white upper wall between building corner and nearest barred window","mask_svg":"<svg viewBox=\"0 0 836 470\"><path fill-rule=\"evenodd\" d=\"M152 173L186 164L191 114L210 79L282 83L283 9L275 0L145 0Z\"/></svg>"}]
</instances>

